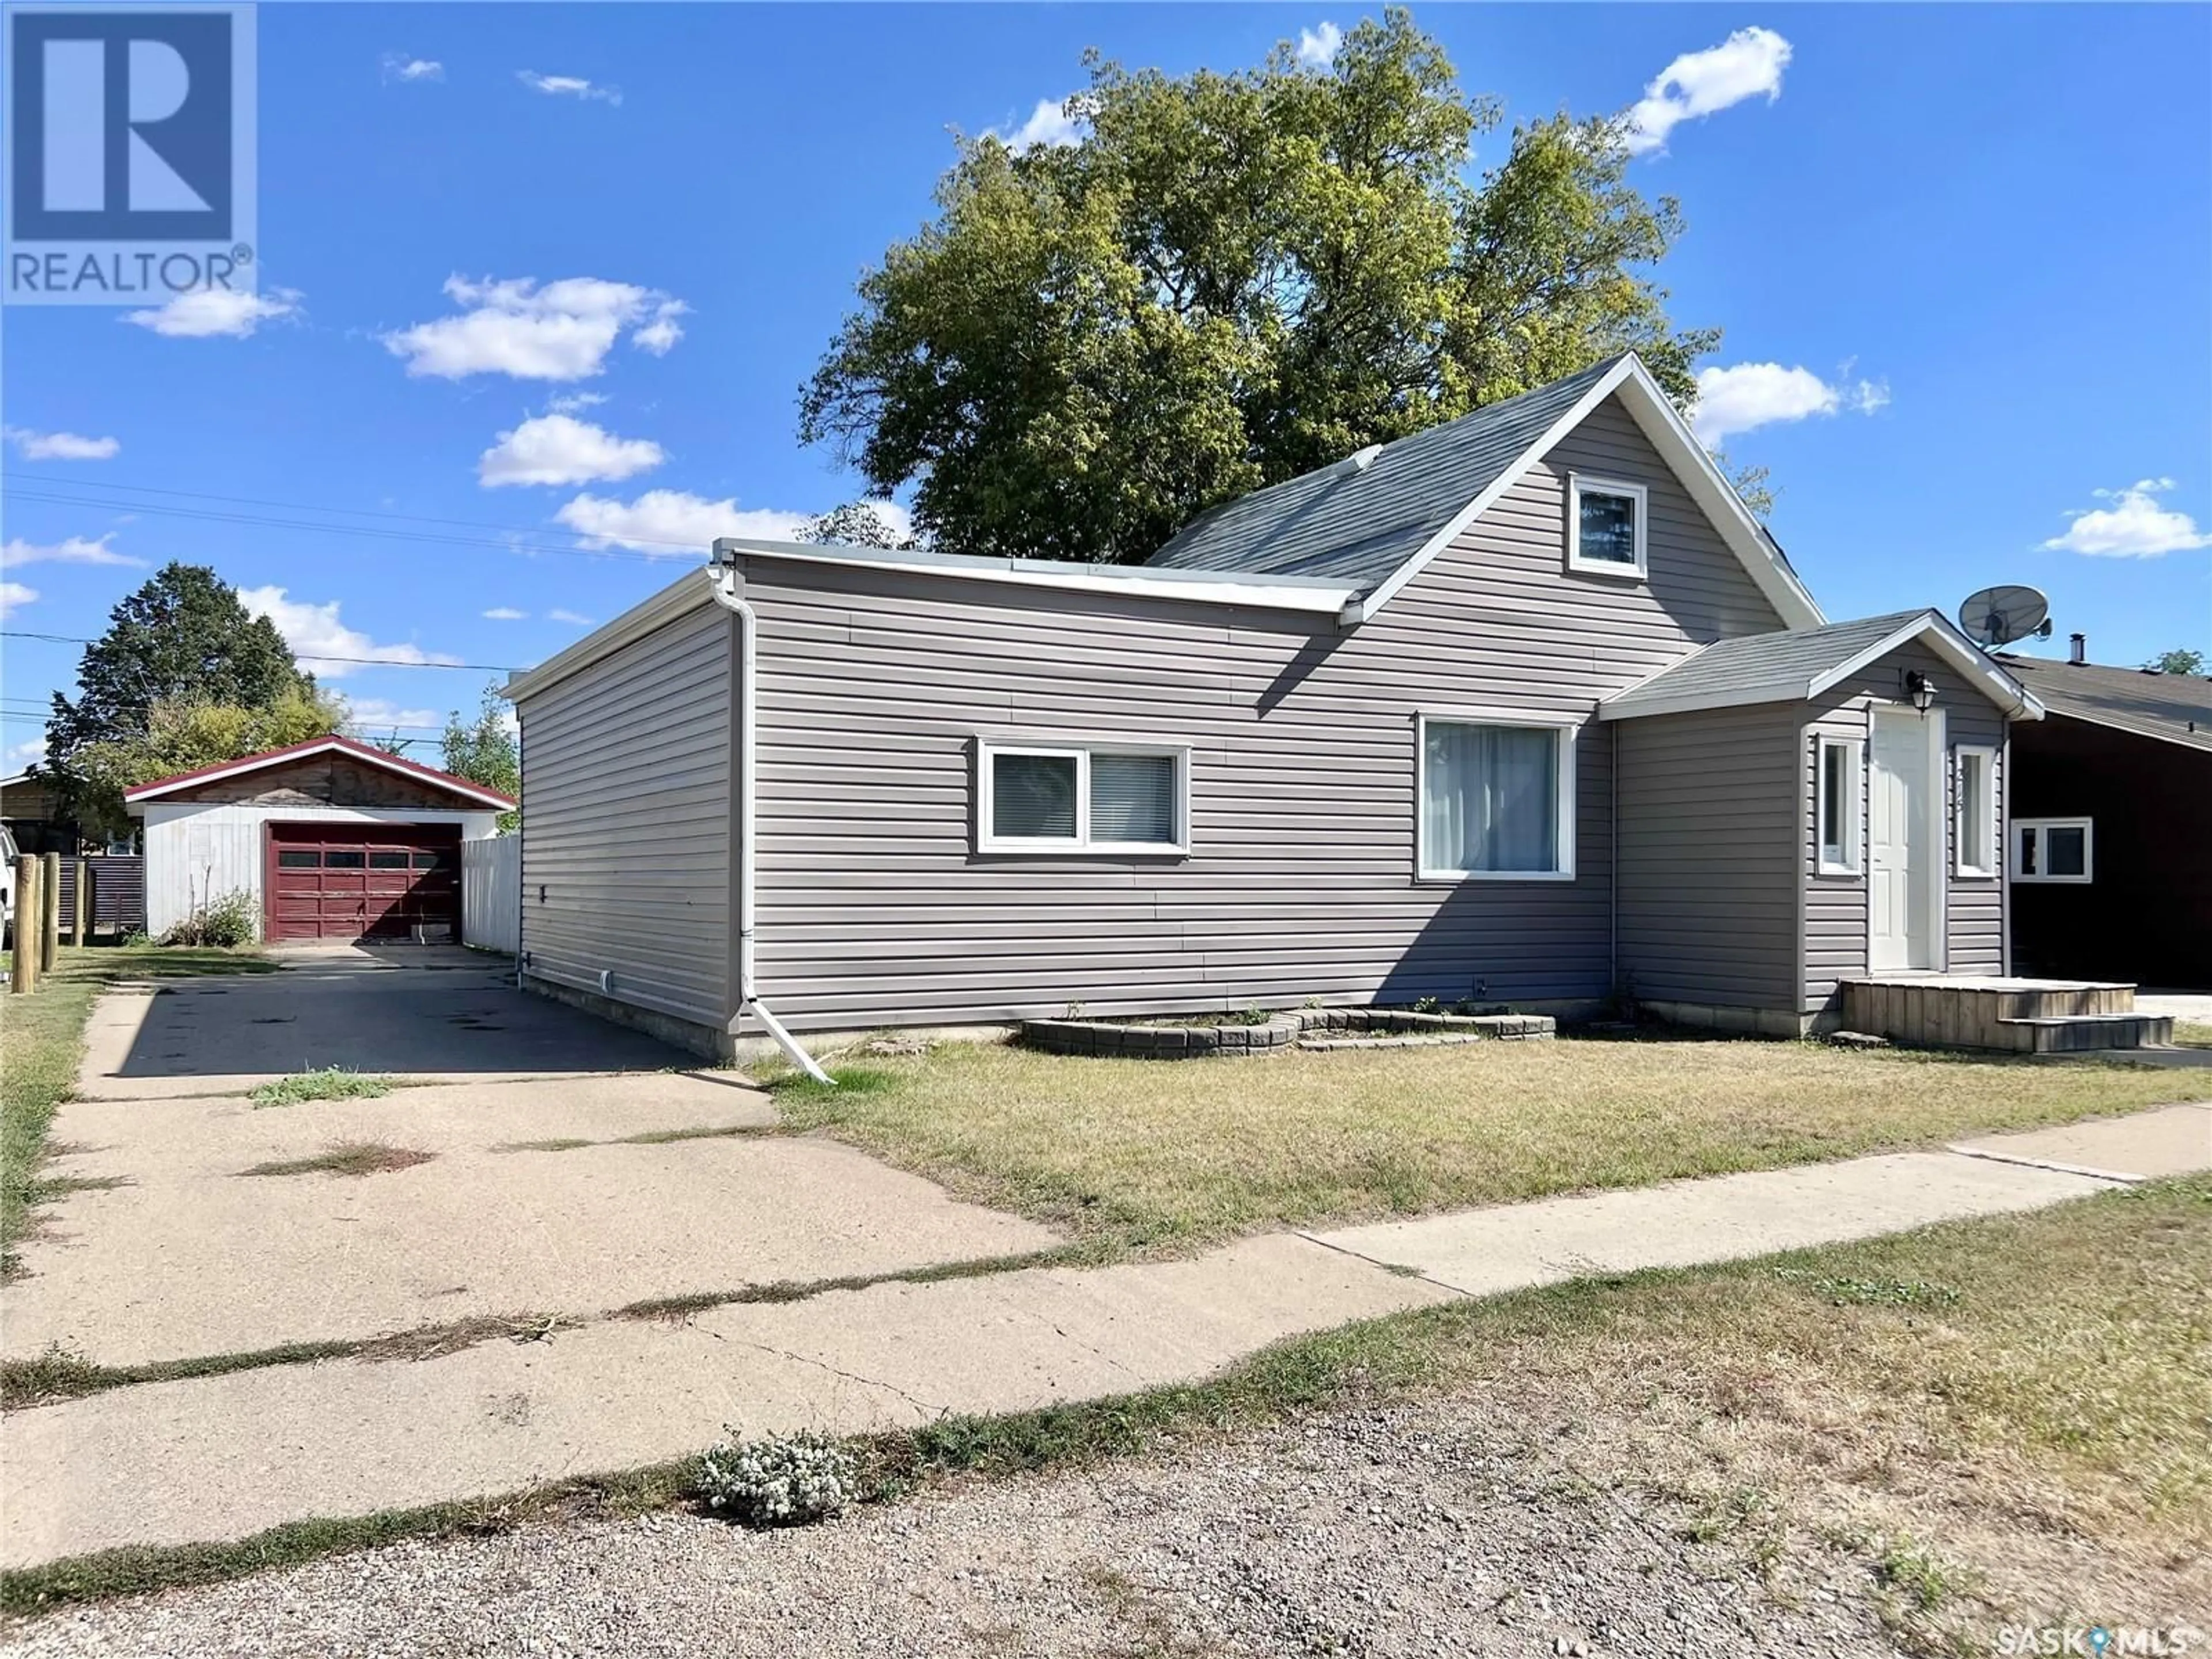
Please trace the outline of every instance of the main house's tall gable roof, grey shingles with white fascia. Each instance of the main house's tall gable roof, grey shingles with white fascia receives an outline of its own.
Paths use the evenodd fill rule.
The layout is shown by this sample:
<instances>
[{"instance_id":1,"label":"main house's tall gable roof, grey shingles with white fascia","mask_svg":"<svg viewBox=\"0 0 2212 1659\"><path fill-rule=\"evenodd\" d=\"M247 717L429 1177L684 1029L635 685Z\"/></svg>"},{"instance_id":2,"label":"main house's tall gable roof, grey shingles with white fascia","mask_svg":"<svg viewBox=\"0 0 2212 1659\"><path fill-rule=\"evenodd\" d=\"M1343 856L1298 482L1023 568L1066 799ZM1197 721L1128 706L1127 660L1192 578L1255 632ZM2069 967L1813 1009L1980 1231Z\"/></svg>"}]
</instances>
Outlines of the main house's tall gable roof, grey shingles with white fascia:
<instances>
[{"instance_id":1,"label":"main house's tall gable roof, grey shingles with white fascia","mask_svg":"<svg viewBox=\"0 0 2212 1659\"><path fill-rule=\"evenodd\" d=\"M1365 622L1615 394L1783 622L1818 626L1820 606L1774 538L1632 352L1380 445L1365 465L1340 460L1225 502L1177 531L1146 568L1329 575L1360 588L1345 622Z\"/></svg>"}]
</instances>

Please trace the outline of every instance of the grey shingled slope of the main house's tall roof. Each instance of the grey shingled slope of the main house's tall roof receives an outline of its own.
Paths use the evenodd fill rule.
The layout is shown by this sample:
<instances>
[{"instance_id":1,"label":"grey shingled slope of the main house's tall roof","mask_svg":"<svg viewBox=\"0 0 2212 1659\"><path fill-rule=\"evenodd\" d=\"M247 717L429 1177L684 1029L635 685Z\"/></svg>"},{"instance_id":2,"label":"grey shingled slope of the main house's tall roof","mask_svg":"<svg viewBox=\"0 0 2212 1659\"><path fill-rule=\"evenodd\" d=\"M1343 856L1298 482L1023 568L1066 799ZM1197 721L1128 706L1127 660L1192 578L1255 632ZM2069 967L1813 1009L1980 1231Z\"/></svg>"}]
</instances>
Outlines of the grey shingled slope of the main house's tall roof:
<instances>
[{"instance_id":1,"label":"grey shingled slope of the main house's tall roof","mask_svg":"<svg viewBox=\"0 0 2212 1659\"><path fill-rule=\"evenodd\" d=\"M1314 575L1371 588L1489 489L1601 380L1619 356L1460 420L1223 502L1190 520L1148 564Z\"/></svg>"}]
</instances>

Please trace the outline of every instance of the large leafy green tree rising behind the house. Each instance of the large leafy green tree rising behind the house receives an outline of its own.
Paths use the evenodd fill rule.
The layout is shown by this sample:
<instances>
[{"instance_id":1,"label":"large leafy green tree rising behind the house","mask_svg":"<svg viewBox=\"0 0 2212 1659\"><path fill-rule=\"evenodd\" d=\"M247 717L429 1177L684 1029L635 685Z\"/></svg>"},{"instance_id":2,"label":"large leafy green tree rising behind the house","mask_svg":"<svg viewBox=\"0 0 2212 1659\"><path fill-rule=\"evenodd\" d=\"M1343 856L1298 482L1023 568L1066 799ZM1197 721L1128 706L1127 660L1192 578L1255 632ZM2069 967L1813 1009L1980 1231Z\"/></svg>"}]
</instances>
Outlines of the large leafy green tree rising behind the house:
<instances>
[{"instance_id":1,"label":"large leafy green tree rising behind the house","mask_svg":"<svg viewBox=\"0 0 2212 1659\"><path fill-rule=\"evenodd\" d=\"M962 553L1135 562L1192 513L1635 347L1677 398L1714 332L1648 274L1681 230L1624 128L1515 128L1405 11L1325 71L1091 58L1077 144L962 139L860 279L801 436Z\"/></svg>"}]
</instances>

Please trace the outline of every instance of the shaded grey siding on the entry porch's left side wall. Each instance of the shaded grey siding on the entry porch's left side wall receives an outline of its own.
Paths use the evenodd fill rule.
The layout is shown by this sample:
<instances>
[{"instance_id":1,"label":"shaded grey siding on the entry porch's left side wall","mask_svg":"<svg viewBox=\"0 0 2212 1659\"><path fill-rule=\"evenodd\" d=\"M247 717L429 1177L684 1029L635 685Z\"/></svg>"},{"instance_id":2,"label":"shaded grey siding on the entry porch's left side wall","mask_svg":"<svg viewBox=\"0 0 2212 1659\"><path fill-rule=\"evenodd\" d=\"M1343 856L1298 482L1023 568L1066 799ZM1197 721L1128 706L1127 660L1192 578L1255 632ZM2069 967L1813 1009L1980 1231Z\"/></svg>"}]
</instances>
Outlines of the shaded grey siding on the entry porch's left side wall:
<instances>
[{"instance_id":1,"label":"shaded grey siding on the entry porch's left side wall","mask_svg":"<svg viewBox=\"0 0 2212 1659\"><path fill-rule=\"evenodd\" d=\"M1798 708L1617 721L1619 956L1641 1002L1790 1009Z\"/></svg>"}]
</instances>

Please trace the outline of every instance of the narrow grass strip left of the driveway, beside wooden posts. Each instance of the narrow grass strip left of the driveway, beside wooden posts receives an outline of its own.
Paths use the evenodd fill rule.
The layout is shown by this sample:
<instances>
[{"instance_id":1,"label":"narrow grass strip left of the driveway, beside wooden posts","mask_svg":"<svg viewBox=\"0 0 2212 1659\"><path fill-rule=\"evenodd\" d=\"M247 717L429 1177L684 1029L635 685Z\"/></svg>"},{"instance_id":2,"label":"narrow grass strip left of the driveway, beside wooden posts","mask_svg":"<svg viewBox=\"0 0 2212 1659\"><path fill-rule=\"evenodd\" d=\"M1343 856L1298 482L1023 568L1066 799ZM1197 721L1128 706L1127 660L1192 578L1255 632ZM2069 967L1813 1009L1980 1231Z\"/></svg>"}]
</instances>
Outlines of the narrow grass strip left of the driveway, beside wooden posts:
<instances>
[{"instance_id":1,"label":"narrow grass strip left of the driveway, beside wooden posts","mask_svg":"<svg viewBox=\"0 0 2212 1659\"><path fill-rule=\"evenodd\" d=\"M38 1172L53 1113L77 1086L93 1000L122 980L274 971L274 962L243 951L64 945L35 993L0 998L0 1274L18 1270L15 1248L31 1212L62 1197Z\"/></svg>"}]
</instances>

